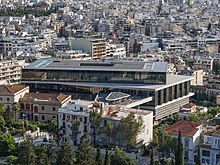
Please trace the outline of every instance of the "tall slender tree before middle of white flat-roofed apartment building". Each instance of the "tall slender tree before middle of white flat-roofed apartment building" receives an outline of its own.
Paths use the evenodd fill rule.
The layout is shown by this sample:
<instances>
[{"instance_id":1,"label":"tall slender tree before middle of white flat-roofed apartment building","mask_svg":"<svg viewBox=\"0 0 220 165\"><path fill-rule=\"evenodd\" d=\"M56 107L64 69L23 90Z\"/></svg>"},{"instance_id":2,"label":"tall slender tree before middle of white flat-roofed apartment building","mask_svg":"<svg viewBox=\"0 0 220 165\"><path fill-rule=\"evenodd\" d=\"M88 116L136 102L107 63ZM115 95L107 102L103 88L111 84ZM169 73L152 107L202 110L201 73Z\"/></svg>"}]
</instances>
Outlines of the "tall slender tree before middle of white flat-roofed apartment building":
<instances>
[{"instance_id":1,"label":"tall slender tree before middle of white flat-roofed apartment building","mask_svg":"<svg viewBox=\"0 0 220 165\"><path fill-rule=\"evenodd\" d=\"M97 110L90 111L89 114L89 120L91 123L91 129L92 129L92 137L93 137L93 145L96 147L96 136L98 132L98 128L100 127L101 121L102 121L102 113L98 112Z\"/></svg>"}]
</instances>

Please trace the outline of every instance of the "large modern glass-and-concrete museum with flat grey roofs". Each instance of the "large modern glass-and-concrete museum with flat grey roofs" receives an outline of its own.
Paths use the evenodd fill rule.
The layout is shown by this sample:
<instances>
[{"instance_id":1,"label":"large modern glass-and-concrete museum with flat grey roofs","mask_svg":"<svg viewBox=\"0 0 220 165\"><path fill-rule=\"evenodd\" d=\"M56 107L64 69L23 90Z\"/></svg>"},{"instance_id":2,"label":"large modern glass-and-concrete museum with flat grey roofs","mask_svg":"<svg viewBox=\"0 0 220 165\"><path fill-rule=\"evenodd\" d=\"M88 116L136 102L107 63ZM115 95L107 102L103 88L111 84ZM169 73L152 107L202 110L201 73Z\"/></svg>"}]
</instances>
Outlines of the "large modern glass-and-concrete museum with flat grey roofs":
<instances>
[{"instance_id":1,"label":"large modern glass-and-concrete museum with flat grey roofs","mask_svg":"<svg viewBox=\"0 0 220 165\"><path fill-rule=\"evenodd\" d=\"M189 102L193 77L167 74L165 62L38 60L23 69L33 91L71 93L75 99L101 99L111 92L131 96L129 108L152 110L155 120Z\"/></svg>"}]
</instances>

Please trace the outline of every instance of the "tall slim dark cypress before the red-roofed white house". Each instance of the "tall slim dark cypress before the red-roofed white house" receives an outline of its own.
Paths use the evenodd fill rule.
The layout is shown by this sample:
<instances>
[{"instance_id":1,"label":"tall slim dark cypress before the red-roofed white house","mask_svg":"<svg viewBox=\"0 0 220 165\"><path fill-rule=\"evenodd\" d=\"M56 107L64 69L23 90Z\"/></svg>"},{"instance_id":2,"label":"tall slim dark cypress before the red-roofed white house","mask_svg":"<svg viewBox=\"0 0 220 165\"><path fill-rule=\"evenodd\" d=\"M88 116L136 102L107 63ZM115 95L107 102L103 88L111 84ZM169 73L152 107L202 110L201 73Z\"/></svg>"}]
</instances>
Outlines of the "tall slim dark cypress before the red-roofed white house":
<instances>
[{"instance_id":1,"label":"tall slim dark cypress before the red-roofed white house","mask_svg":"<svg viewBox=\"0 0 220 165\"><path fill-rule=\"evenodd\" d=\"M181 132L179 131L178 141L177 141L177 149L175 153L175 164L176 165L183 165L183 143L181 138Z\"/></svg>"}]
</instances>

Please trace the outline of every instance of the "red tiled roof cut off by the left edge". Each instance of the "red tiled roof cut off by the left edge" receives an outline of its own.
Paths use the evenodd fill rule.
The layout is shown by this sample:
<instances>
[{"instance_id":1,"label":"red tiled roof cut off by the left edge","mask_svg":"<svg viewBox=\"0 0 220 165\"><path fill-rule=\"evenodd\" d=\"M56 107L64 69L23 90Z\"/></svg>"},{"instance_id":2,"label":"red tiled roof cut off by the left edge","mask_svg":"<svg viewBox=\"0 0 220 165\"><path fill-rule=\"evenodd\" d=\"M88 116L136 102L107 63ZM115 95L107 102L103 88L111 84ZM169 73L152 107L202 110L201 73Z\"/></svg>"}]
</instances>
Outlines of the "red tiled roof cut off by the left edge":
<instances>
[{"instance_id":1,"label":"red tiled roof cut off by the left edge","mask_svg":"<svg viewBox=\"0 0 220 165\"><path fill-rule=\"evenodd\" d=\"M26 88L26 86L22 85L1 85L0 86L0 94L15 94L21 90Z\"/></svg>"}]
</instances>

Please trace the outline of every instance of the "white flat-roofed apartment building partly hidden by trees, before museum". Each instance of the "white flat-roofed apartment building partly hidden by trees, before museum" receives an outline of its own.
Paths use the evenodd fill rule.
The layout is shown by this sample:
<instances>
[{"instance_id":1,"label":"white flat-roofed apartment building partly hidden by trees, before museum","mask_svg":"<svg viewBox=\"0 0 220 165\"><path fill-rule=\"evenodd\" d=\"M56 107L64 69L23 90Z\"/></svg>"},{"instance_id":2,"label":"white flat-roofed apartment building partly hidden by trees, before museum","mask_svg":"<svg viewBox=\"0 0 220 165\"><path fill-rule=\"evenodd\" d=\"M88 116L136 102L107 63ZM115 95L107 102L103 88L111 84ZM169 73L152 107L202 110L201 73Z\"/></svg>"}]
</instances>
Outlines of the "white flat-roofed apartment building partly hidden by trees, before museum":
<instances>
[{"instance_id":1,"label":"white flat-roofed apartment building partly hidden by trees, before museum","mask_svg":"<svg viewBox=\"0 0 220 165\"><path fill-rule=\"evenodd\" d=\"M139 116L143 119L143 127L140 134L137 137L137 143L147 144L153 138L153 112L142 111L137 109L125 109L119 106L104 105L104 103L89 102L84 100L72 101L71 104L58 110L58 129L62 129L61 133L67 138L71 145L79 144L80 137L85 133L91 133L89 112L92 110L102 111L102 124L112 123L113 128L119 124L122 118L129 115L130 112L135 114L136 120ZM73 126L71 121L78 121L78 134L77 137L72 136L71 127ZM103 137L105 135L97 135L97 143L103 144ZM90 139L92 140L92 139ZM125 142L119 142L117 140L111 140L112 145L125 146Z\"/></svg>"}]
</instances>

